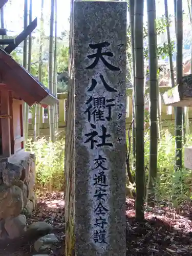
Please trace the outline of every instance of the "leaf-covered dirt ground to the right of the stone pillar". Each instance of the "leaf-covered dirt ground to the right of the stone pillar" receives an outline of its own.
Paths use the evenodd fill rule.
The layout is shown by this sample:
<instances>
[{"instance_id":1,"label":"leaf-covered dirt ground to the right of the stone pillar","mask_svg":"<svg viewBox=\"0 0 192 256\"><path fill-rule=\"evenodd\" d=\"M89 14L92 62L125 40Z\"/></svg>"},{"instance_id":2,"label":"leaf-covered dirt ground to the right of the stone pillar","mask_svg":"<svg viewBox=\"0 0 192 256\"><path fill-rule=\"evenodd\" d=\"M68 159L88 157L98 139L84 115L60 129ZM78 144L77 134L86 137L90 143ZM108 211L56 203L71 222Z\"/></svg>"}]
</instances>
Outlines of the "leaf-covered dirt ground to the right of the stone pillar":
<instances>
[{"instance_id":1,"label":"leaf-covered dirt ground to the right of the stone pillar","mask_svg":"<svg viewBox=\"0 0 192 256\"><path fill-rule=\"evenodd\" d=\"M169 207L150 209L139 224L134 200L127 199L126 206L127 256L192 255L192 207L183 206L180 214Z\"/></svg>"}]
</instances>

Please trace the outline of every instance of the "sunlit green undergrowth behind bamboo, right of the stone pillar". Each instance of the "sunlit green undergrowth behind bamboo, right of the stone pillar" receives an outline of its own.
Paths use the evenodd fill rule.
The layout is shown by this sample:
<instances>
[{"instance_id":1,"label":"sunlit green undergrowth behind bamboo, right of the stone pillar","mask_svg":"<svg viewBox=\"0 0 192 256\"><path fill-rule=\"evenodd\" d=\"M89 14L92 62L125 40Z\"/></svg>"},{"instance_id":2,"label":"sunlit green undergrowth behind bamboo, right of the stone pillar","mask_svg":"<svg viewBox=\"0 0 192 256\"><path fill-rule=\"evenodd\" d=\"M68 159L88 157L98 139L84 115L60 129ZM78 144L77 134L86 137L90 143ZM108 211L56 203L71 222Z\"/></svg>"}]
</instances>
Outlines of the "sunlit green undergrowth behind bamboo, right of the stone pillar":
<instances>
[{"instance_id":1,"label":"sunlit green undergrowth behind bamboo, right of the stone pillar","mask_svg":"<svg viewBox=\"0 0 192 256\"><path fill-rule=\"evenodd\" d=\"M150 133L145 134L145 177L148 179L148 168L150 161ZM183 148L192 145L192 134L186 137ZM131 166L132 166L132 157ZM184 150L183 150L184 164ZM175 172L175 136L168 130L161 131L161 141L158 143L158 175L156 184L156 200L160 203L167 202L170 206L180 207L183 203L190 202L192 186L192 170L182 168ZM135 170L132 169L135 179ZM129 185L129 190L135 192L135 186ZM130 193L131 195L131 193Z\"/></svg>"}]
</instances>

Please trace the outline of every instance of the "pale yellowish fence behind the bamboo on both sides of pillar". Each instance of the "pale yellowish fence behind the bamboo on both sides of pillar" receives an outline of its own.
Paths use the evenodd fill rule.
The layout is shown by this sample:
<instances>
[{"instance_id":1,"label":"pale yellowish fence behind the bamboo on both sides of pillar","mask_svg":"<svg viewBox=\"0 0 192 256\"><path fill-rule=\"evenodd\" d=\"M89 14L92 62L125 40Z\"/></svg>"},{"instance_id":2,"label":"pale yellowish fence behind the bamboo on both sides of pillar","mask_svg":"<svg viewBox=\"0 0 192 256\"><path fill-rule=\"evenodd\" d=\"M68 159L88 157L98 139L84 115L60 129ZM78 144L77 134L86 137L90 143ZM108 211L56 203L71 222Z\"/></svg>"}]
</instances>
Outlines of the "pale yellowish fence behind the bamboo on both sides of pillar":
<instances>
[{"instance_id":1,"label":"pale yellowish fence behind the bamboo on both sides of pillar","mask_svg":"<svg viewBox=\"0 0 192 256\"><path fill-rule=\"evenodd\" d=\"M167 87L160 87L160 94L165 92ZM127 104L126 104L126 126L129 127L129 124L132 122L132 89L127 89ZM65 126L66 126L66 113L67 113L67 93L58 94L59 105L58 105L58 121L59 121L59 134L65 136ZM145 110L148 110L149 107L149 94L146 91L145 94ZM160 113L162 127L173 127L175 123L174 109L171 106L165 106L161 99L160 100ZM192 119L192 108L189 108L189 119ZM34 134L34 120L35 120L35 111L32 108L32 111L29 113L29 137L32 137ZM48 109L41 108L40 110L40 136L49 136L49 113Z\"/></svg>"}]
</instances>

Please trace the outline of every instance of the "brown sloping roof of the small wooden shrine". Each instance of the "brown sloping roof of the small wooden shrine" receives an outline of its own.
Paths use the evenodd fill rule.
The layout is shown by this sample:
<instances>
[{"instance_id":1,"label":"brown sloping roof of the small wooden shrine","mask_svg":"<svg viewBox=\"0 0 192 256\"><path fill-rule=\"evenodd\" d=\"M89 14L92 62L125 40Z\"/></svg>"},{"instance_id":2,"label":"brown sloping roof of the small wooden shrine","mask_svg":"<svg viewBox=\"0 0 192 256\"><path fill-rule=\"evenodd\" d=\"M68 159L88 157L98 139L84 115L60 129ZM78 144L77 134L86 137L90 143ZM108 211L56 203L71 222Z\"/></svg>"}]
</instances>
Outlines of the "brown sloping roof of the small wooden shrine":
<instances>
[{"instance_id":1,"label":"brown sloping roof of the small wooden shrine","mask_svg":"<svg viewBox=\"0 0 192 256\"><path fill-rule=\"evenodd\" d=\"M19 95L29 106L37 103L46 108L58 103L58 99L26 69L20 66L0 46L0 76L1 82L9 90Z\"/></svg>"}]
</instances>

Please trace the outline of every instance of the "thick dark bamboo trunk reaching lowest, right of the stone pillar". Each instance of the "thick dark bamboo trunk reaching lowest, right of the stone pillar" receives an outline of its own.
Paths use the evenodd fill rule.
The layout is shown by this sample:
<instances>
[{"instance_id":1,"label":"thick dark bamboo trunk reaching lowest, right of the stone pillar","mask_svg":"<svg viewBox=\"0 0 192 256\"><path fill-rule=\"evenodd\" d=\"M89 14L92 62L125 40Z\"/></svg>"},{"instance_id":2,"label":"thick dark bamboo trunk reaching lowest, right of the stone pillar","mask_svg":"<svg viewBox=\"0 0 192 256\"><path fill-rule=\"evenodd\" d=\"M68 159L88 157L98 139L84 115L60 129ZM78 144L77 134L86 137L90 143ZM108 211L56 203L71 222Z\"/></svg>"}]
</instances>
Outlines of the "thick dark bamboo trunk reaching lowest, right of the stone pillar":
<instances>
[{"instance_id":1,"label":"thick dark bamboo trunk reaching lowest, right of the stone pillar","mask_svg":"<svg viewBox=\"0 0 192 256\"><path fill-rule=\"evenodd\" d=\"M135 1L135 124L136 124L136 219L144 219L144 49L143 49L143 0Z\"/></svg>"}]
</instances>

